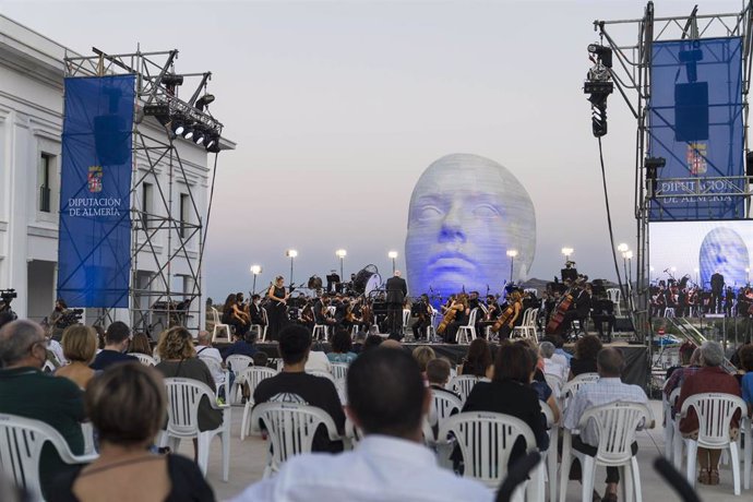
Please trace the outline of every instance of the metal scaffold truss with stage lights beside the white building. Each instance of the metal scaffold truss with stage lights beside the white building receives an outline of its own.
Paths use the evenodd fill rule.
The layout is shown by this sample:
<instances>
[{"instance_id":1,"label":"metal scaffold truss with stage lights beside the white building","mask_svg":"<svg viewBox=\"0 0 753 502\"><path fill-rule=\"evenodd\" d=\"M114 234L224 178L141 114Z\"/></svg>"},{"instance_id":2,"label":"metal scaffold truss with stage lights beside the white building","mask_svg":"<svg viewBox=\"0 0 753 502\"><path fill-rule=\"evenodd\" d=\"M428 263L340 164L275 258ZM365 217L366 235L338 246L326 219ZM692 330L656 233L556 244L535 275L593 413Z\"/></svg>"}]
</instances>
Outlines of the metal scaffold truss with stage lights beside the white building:
<instances>
[{"instance_id":1,"label":"metal scaffold truss with stage lights beside the white building","mask_svg":"<svg viewBox=\"0 0 753 502\"><path fill-rule=\"evenodd\" d=\"M129 315L132 328L157 335L176 323L189 328L203 327L201 315L201 278L208 207L199 207L190 175L180 157L179 142L172 132L172 120L198 124L215 138L216 146L207 148L217 154L223 124L208 111L194 107L200 92L205 91L211 73L181 74L184 79L201 77L195 93L187 103L176 93L174 63L178 50L108 55L97 48L89 57L74 56L64 60L65 76L100 76L113 74L135 75L135 111L133 120L133 168L131 182L131 284ZM152 116L155 122L148 123ZM214 159L214 170L216 171ZM166 176L160 176L165 171ZM184 184L181 192L190 200L188 215L180 218L175 207L177 182ZM202 183L202 180L194 180ZM154 204L144 204L144 184L150 183L155 194ZM212 178L214 186L214 175ZM180 199L178 199L180 202ZM211 203L211 201L210 201ZM178 213L178 214L176 214ZM191 244L195 244L192 247ZM166 250L164 252L163 250ZM139 276L139 264L147 270L148 278ZM184 263L180 278L190 280L190 290L174 290L171 279L178 276L176 264ZM152 309L157 303L163 309ZM177 311L176 306L183 306ZM156 311L156 312L155 312ZM158 313L155 315L155 313ZM101 309L97 322L112 320L108 309Z\"/></svg>"}]
</instances>

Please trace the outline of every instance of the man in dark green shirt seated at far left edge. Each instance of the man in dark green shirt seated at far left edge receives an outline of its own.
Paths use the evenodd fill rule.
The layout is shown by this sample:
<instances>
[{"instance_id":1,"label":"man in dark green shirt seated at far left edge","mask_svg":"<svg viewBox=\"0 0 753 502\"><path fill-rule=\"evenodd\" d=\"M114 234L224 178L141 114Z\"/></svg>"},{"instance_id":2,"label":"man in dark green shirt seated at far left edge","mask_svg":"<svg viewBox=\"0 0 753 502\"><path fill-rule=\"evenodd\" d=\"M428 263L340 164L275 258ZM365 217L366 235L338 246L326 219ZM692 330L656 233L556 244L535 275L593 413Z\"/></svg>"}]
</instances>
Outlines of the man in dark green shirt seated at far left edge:
<instances>
[{"instance_id":1,"label":"man in dark green shirt seated at far left edge","mask_svg":"<svg viewBox=\"0 0 753 502\"><path fill-rule=\"evenodd\" d=\"M31 321L14 321L0 330L0 413L33 418L50 425L63 437L74 455L84 453L81 421L83 393L68 379L40 371L47 339L41 327ZM51 478L67 466L55 447L41 449L39 479L45 499L51 497Z\"/></svg>"}]
</instances>

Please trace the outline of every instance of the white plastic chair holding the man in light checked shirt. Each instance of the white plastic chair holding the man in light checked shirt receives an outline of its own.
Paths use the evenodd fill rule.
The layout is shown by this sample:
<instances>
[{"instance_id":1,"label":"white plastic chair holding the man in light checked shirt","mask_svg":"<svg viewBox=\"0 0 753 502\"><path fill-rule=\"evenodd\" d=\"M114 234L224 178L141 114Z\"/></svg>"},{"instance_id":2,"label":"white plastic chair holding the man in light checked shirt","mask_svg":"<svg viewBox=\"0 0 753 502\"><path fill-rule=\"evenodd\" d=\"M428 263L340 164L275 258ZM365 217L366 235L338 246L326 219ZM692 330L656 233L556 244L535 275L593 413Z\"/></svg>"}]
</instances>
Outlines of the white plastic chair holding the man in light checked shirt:
<instances>
[{"instance_id":1,"label":"white plastic chair holding the man in light checked shirt","mask_svg":"<svg viewBox=\"0 0 753 502\"><path fill-rule=\"evenodd\" d=\"M634 495L636 502L642 502L638 459L633 456L632 445L635 442L635 432L638 427L648 427L654 420L653 417L646 405L637 403L618 402L588 409L581 417L578 430L584 430L590 420L594 421L599 438L596 456L586 455L572 449L572 431L564 429L562 465L560 467L560 501L564 502L565 500L570 465L572 456L575 456L581 461L582 466L583 500L591 499L596 466L603 465L622 467L624 474L620 482L623 489L622 500L631 502L632 495Z\"/></svg>"}]
</instances>

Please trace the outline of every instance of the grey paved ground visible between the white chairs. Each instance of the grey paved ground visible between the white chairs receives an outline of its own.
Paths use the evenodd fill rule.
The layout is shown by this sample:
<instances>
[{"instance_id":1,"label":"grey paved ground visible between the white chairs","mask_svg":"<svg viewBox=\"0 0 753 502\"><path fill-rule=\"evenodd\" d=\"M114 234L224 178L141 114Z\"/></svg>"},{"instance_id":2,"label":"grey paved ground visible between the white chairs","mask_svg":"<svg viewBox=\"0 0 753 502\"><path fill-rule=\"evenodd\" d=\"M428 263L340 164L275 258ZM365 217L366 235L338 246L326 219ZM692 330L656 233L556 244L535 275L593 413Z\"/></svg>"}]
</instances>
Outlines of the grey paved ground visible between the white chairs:
<instances>
[{"instance_id":1,"label":"grey paved ground visible between the white chairs","mask_svg":"<svg viewBox=\"0 0 753 502\"><path fill-rule=\"evenodd\" d=\"M660 423L661 406L659 402L652 402L654 415ZM266 462L265 443L255 437L240 441L240 420L243 408L232 409L232 442L230 444L230 479L222 480L222 447L217 439L212 444L210 468L207 479L217 494L218 500L229 500L240 493L244 487L261 479ZM638 433L638 461L641 466L641 480L643 482L643 499L647 502L679 500L677 494L664 482L658 473L654 470L653 461L660 452L664 452L664 434L661 429L653 429ZM180 453L192 455L192 446L183 442ZM741 469L742 471L742 469ZM602 493L605 479L603 468L597 471L597 490ZM567 487L567 500L579 500L579 483L571 481ZM721 483L717 487L697 486L698 495L707 502L734 500L732 491L732 474L729 466L721 467ZM751 491L743 490L741 500L750 500Z\"/></svg>"}]
</instances>

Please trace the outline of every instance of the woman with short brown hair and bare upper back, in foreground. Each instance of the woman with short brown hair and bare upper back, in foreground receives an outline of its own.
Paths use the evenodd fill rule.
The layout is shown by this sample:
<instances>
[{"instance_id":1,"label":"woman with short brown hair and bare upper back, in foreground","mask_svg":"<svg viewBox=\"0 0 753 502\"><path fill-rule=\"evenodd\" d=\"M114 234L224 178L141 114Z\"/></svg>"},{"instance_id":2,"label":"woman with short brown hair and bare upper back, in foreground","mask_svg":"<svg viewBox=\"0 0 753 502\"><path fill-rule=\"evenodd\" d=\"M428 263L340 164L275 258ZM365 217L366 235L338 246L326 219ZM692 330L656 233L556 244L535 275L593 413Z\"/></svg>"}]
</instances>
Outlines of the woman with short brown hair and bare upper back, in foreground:
<instances>
[{"instance_id":1,"label":"woman with short brown hair and bare upper back, in foreground","mask_svg":"<svg viewBox=\"0 0 753 502\"><path fill-rule=\"evenodd\" d=\"M150 452L166 415L158 372L136 362L116 364L88 385L85 402L99 433L99 457L58 476L52 502L215 500L196 464Z\"/></svg>"}]
</instances>

